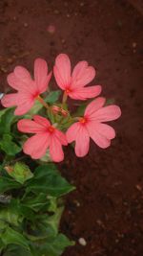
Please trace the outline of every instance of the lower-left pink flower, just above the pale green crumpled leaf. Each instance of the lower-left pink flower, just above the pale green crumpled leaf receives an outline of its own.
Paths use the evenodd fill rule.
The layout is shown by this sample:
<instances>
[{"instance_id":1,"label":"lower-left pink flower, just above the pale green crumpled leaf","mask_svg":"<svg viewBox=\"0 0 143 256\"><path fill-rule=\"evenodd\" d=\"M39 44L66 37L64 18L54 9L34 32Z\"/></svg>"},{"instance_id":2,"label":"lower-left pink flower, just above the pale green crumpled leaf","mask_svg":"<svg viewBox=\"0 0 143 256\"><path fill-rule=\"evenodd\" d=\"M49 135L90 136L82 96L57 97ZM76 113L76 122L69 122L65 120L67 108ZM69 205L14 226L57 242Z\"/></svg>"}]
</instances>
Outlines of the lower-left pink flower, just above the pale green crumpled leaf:
<instances>
[{"instance_id":1,"label":"lower-left pink flower, just above the pale green crumpled leaf","mask_svg":"<svg viewBox=\"0 0 143 256\"><path fill-rule=\"evenodd\" d=\"M50 148L51 159L60 162L64 159L62 145L67 145L66 135L59 129L51 126L48 119L35 115L34 121L30 119L20 120L17 127L22 132L35 133L24 144L23 151L31 155L33 159L39 159Z\"/></svg>"}]
</instances>

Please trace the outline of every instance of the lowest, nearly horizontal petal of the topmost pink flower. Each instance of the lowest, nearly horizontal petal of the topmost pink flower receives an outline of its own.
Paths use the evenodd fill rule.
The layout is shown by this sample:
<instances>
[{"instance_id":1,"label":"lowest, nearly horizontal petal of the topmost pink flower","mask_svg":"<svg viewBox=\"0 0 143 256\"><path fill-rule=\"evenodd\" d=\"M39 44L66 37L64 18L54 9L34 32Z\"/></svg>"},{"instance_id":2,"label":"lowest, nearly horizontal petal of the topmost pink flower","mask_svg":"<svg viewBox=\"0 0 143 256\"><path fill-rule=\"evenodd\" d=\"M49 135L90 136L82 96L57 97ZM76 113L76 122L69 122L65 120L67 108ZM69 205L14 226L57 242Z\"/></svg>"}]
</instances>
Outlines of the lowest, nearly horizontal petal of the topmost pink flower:
<instances>
[{"instance_id":1,"label":"lowest, nearly horizontal petal of the topmost pink flower","mask_svg":"<svg viewBox=\"0 0 143 256\"><path fill-rule=\"evenodd\" d=\"M80 87L74 88L72 92L69 93L69 96L74 100L87 100L89 98L96 97L101 92L100 85L94 85L89 87Z\"/></svg>"}]
</instances>

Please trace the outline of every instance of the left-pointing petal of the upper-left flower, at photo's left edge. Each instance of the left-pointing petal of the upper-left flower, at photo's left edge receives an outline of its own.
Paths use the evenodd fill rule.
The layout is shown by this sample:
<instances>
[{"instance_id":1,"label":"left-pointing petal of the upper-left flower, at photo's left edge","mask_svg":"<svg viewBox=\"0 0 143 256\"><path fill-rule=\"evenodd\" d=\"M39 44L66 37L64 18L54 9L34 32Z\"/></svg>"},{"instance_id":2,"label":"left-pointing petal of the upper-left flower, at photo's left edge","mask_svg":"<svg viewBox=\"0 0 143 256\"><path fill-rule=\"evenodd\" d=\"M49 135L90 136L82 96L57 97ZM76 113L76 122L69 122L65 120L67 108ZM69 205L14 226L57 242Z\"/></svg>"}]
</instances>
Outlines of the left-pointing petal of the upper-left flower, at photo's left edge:
<instances>
[{"instance_id":1,"label":"left-pointing petal of the upper-left flower, at photo's left edge","mask_svg":"<svg viewBox=\"0 0 143 256\"><path fill-rule=\"evenodd\" d=\"M17 100L18 100L18 93L10 93L8 95L5 95L2 98L1 103L5 107L10 107L10 106L17 105Z\"/></svg>"}]
</instances>

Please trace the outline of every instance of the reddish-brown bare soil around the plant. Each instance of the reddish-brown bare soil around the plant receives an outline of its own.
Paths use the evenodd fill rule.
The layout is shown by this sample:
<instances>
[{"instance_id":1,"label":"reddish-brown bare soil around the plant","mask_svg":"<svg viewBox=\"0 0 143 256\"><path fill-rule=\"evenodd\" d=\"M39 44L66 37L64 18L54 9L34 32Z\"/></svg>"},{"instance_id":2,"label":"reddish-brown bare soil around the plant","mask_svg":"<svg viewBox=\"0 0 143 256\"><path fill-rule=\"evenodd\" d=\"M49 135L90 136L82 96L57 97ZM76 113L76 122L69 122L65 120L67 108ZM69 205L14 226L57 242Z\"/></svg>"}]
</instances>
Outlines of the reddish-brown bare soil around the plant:
<instances>
[{"instance_id":1,"label":"reddish-brown bare soil around the plant","mask_svg":"<svg viewBox=\"0 0 143 256\"><path fill-rule=\"evenodd\" d=\"M72 64L87 59L94 65L94 84L122 108L112 123L117 135L111 148L91 144L81 159L68 148L59 165L77 187L61 224L76 245L64 256L143 255L142 30L141 12L125 0L0 1L2 91L8 91L6 77L16 64L32 70L34 58L52 64L67 53ZM86 246L78 243L81 237Z\"/></svg>"}]
</instances>

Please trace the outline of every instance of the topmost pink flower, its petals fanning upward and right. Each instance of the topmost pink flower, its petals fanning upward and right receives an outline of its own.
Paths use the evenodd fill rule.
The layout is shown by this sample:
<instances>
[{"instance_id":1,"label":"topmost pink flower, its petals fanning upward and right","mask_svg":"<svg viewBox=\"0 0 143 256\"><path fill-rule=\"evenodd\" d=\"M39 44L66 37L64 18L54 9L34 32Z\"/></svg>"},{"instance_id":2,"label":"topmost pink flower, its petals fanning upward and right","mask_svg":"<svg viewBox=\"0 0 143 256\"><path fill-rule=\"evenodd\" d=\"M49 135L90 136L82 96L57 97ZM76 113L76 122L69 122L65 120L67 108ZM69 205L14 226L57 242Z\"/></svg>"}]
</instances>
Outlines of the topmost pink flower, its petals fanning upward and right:
<instances>
[{"instance_id":1,"label":"topmost pink flower, its petals fanning upward and right","mask_svg":"<svg viewBox=\"0 0 143 256\"><path fill-rule=\"evenodd\" d=\"M60 54L55 59L53 73L58 86L74 100L87 100L101 92L100 85L85 87L95 77L95 70L87 61L78 62L71 71L70 58Z\"/></svg>"}]
</instances>

